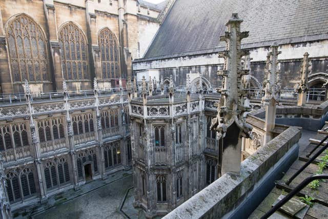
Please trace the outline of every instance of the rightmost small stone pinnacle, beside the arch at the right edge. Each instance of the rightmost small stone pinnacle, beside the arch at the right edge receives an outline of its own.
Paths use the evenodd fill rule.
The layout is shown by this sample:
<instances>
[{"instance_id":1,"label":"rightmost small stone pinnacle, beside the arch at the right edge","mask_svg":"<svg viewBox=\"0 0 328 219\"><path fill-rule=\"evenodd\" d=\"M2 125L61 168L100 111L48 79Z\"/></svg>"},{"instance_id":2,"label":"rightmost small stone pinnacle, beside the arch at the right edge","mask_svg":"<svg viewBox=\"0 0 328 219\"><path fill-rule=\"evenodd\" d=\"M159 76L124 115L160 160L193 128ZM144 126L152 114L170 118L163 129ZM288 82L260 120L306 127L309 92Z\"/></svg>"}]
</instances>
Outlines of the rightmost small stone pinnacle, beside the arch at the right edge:
<instances>
[{"instance_id":1,"label":"rightmost small stone pinnacle, beside the arch at the right edge","mask_svg":"<svg viewBox=\"0 0 328 219\"><path fill-rule=\"evenodd\" d=\"M297 106L305 106L306 104L306 93L308 92L308 74L309 74L309 53L305 52L303 63L301 67L301 79L298 84L298 99Z\"/></svg>"}]
</instances>

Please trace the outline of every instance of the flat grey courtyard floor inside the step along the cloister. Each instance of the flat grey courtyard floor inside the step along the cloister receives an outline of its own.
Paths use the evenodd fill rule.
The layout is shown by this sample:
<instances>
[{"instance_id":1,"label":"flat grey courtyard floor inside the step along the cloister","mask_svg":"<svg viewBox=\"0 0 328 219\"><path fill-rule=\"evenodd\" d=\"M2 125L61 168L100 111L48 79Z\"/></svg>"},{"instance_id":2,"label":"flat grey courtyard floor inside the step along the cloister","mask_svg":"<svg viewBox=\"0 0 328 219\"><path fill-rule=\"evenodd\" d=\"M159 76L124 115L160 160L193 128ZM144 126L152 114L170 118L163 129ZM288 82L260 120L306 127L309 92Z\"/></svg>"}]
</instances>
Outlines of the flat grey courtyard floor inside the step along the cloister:
<instances>
[{"instance_id":1,"label":"flat grey courtyard floor inside the step along the cloister","mask_svg":"<svg viewBox=\"0 0 328 219\"><path fill-rule=\"evenodd\" d=\"M89 184L92 184L89 183ZM86 184L85 186L89 186ZM121 202L129 188L133 186L132 175L73 198L52 207L43 213L33 215L35 219L82 219L82 218L126 218L119 211ZM133 206L131 206L133 208Z\"/></svg>"}]
</instances>

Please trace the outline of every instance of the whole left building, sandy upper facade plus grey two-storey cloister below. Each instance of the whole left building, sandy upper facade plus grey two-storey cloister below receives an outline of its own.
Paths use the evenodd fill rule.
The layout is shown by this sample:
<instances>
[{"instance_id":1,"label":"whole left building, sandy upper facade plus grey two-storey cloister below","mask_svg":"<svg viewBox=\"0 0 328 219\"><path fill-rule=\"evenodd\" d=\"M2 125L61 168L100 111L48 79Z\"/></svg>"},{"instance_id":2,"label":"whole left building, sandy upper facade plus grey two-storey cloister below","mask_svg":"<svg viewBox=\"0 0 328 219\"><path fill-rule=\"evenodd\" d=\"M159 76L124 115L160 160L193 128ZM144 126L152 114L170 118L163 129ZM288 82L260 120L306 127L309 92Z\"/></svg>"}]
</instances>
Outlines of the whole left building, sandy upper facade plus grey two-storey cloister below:
<instances>
[{"instance_id":1,"label":"whole left building, sandy upper facade plus grey two-storey cloister below","mask_svg":"<svg viewBox=\"0 0 328 219\"><path fill-rule=\"evenodd\" d=\"M129 165L119 78L131 75L172 3L0 2L3 215Z\"/></svg>"}]
</instances>

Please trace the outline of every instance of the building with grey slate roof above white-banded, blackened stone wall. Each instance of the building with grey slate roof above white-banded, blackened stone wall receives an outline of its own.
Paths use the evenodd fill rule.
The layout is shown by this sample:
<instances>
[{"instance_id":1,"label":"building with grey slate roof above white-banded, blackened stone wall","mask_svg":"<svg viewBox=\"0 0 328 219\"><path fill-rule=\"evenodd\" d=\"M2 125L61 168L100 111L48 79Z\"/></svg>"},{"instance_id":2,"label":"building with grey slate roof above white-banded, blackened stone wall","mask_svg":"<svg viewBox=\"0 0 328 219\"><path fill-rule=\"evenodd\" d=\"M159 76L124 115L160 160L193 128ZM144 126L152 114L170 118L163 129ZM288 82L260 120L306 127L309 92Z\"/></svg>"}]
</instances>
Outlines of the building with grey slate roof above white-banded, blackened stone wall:
<instances>
[{"instance_id":1,"label":"building with grey slate roof above white-banded, blackened stone wall","mask_svg":"<svg viewBox=\"0 0 328 219\"><path fill-rule=\"evenodd\" d=\"M217 53L225 45L218 36L224 35L231 14L238 13L244 21L241 30L249 31L242 49L250 50L254 90L262 88L267 54L276 43L282 52L278 58L283 92L298 83L306 51L311 64L309 88L323 94L320 89L328 79L327 10L322 0L176 1L144 57L133 61L133 71L157 71L164 81L172 74L175 86L186 86L189 75L192 84L202 77L204 85L219 87L216 72L223 68L223 58L217 58Z\"/></svg>"}]
</instances>

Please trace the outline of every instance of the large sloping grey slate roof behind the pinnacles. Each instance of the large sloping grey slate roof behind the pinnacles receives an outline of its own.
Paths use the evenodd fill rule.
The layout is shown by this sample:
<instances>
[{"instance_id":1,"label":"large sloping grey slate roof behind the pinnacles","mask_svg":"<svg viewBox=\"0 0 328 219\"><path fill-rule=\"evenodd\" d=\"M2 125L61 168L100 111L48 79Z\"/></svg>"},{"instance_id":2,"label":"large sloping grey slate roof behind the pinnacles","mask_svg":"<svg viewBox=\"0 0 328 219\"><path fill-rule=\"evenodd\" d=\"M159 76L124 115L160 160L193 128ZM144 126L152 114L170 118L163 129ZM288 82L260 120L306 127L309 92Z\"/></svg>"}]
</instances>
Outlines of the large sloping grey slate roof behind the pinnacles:
<instances>
[{"instance_id":1,"label":"large sloping grey slate roof behind the pinnacles","mask_svg":"<svg viewBox=\"0 0 328 219\"><path fill-rule=\"evenodd\" d=\"M144 58L135 62L221 51L232 13L250 35L243 48L328 38L327 0L177 0Z\"/></svg>"}]
</instances>

